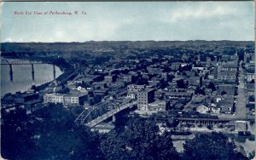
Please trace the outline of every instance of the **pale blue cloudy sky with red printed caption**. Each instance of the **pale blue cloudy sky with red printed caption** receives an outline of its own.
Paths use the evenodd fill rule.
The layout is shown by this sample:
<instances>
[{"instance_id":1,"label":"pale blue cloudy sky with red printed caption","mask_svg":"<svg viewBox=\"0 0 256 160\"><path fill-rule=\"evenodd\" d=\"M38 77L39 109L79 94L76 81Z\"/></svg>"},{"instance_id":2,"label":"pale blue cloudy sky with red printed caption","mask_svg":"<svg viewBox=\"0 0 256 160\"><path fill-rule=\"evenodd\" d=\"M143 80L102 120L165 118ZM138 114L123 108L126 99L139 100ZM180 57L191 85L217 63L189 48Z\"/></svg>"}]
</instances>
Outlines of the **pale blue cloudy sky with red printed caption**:
<instances>
[{"instance_id":1,"label":"pale blue cloudy sky with red printed caption","mask_svg":"<svg viewBox=\"0 0 256 160\"><path fill-rule=\"evenodd\" d=\"M1 8L2 43L254 41L252 1L5 2L1 3ZM34 11L42 14L34 14ZM71 14L49 14L50 11Z\"/></svg>"}]
</instances>

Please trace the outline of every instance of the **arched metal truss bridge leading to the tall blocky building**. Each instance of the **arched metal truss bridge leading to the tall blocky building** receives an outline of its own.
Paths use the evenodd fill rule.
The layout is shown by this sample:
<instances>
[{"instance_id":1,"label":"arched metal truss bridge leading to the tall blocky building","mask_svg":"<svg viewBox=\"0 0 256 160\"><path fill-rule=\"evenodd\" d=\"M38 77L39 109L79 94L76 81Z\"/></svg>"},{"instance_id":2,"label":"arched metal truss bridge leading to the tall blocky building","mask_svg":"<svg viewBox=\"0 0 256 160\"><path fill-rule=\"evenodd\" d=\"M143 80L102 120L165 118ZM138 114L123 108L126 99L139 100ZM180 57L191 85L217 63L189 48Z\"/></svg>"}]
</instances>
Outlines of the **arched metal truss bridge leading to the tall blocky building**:
<instances>
[{"instance_id":1,"label":"arched metal truss bridge leading to the tall blocky building","mask_svg":"<svg viewBox=\"0 0 256 160\"><path fill-rule=\"evenodd\" d=\"M119 111L131 108L137 104L136 101L117 102L114 100L103 101L82 111L75 123L84 124L90 128L102 123L109 117L114 117Z\"/></svg>"}]
</instances>

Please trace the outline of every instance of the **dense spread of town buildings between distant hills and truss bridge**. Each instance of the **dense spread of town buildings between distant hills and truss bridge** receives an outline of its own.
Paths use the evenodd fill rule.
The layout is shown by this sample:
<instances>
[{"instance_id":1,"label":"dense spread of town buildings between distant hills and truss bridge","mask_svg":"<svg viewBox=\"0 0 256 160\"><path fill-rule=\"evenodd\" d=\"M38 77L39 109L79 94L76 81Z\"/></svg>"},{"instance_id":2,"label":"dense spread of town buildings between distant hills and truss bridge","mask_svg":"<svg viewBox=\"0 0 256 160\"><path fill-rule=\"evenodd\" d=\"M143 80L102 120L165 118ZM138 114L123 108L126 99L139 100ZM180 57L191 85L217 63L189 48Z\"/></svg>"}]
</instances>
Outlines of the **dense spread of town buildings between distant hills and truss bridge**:
<instances>
[{"instance_id":1,"label":"dense spread of town buildings between distant hills and truss bridge","mask_svg":"<svg viewBox=\"0 0 256 160\"><path fill-rule=\"evenodd\" d=\"M38 100L90 107L102 100L129 99L137 101L139 112L233 114L237 86L244 83L247 106L254 114L254 53L246 52L243 63L240 59L235 51L218 56L214 51L162 57L154 54L143 60L116 57L81 67L79 75L65 84L51 83Z\"/></svg>"}]
</instances>

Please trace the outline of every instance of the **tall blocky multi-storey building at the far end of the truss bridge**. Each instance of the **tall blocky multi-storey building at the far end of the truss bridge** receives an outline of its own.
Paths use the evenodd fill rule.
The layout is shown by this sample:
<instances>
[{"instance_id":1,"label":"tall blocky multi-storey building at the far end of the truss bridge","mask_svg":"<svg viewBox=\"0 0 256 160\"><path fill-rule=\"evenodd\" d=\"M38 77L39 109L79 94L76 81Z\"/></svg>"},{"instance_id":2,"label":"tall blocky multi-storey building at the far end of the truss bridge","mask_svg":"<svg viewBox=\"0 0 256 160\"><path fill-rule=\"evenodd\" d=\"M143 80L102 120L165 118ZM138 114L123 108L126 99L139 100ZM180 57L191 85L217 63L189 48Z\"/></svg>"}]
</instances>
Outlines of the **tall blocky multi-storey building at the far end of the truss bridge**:
<instances>
[{"instance_id":1,"label":"tall blocky multi-storey building at the far end of the truss bridge","mask_svg":"<svg viewBox=\"0 0 256 160\"><path fill-rule=\"evenodd\" d=\"M148 111L148 103L154 101L154 89L143 89L137 93L137 107L141 111Z\"/></svg>"}]
</instances>

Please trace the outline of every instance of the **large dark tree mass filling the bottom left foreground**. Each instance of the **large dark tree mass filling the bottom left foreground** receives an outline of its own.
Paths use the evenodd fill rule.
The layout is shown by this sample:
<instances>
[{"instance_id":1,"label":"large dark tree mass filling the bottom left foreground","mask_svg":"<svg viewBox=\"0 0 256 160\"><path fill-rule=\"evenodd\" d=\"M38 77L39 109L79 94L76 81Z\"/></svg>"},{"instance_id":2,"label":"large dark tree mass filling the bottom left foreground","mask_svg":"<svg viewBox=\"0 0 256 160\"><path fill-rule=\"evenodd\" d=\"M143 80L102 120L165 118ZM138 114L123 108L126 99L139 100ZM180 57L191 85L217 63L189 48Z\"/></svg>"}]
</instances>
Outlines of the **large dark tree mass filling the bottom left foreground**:
<instances>
[{"instance_id":1,"label":"large dark tree mass filling the bottom left foreground","mask_svg":"<svg viewBox=\"0 0 256 160\"><path fill-rule=\"evenodd\" d=\"M73 111L49 104L26 116L17 111L4 117L2 156L6 159L102 159L100 137L74 123ZM11 145L10 145L11 144Z\"/></svg>"}]
</instances>

